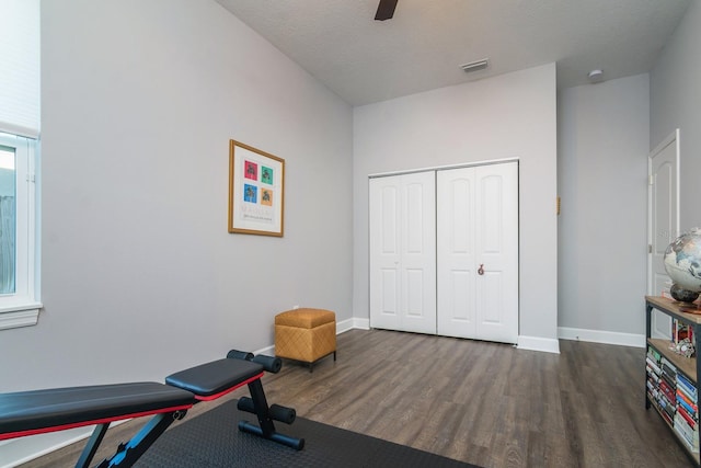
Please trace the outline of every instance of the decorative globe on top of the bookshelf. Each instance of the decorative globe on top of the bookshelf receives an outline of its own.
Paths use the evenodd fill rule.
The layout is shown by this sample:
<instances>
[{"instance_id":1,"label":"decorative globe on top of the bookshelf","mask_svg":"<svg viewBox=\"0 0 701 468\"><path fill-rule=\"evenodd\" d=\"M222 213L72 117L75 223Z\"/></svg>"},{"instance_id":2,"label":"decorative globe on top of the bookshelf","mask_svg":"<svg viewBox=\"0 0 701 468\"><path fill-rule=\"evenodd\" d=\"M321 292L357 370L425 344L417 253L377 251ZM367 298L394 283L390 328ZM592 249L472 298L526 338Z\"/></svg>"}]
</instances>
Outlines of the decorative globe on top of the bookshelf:
<instances>
[{"instance_id":1,"label":"decorative globe on top of the bookshelf","mask_svg":"<svg viewBox=\"0 0 701 468\"><path fill-rule=\"evenodd\" d=\"M665 250L665 270L679 287L701 292L701 229L693 228Z\"/></svg>"}]
</instances>

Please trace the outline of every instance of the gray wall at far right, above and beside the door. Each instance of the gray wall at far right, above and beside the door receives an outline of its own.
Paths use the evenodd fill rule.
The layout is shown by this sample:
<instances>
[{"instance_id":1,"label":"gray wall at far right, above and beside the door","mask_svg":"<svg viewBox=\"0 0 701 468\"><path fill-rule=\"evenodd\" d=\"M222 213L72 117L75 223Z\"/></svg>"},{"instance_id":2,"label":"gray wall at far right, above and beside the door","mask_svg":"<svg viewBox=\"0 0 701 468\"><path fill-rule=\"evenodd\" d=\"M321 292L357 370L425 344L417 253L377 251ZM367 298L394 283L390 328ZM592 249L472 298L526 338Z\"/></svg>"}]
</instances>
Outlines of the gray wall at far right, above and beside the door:
<instances>
[{"instance_id":1,"label":"gray wall at far right, above and beside the door","mask_svg":"<svg viewBox=\"0 0 701 468\"><path fill-rule=\"evenodd\" d=\"M692 1L650 75L650 147L679 128L681 231L701 226L701 1Z\"/></svg>"}]
</instances>

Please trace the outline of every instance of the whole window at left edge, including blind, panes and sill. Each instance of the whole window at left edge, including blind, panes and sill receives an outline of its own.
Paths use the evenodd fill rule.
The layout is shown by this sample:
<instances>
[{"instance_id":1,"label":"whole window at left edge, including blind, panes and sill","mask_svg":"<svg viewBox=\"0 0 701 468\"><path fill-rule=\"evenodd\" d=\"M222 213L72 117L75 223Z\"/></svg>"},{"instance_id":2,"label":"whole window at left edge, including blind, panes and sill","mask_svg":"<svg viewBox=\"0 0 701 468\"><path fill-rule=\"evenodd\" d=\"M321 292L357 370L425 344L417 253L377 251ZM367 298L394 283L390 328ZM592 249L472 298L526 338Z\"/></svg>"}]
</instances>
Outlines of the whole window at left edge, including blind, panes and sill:
<instances>
[{"instance_id":1,"label":"whole window at left edge, including blind, panes and sill","mask_svg":"<svg viewBox=\"0 0 701 468\"><path fill-rule=\"evenodd\" d=\"M2 0L0 330L38 319L39 0Z\"/></svg>"}]
</instances>

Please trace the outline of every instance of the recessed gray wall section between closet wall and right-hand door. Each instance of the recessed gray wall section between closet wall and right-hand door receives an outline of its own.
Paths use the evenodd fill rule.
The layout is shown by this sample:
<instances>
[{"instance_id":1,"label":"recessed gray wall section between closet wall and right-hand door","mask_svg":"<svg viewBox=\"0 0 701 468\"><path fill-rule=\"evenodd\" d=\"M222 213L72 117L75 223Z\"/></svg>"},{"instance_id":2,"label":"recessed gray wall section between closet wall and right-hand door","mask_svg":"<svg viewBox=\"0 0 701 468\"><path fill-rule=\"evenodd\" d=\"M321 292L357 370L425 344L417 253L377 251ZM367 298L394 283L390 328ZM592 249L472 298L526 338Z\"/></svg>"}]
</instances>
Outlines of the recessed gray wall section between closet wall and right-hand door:
<instances>
[{"instance_id":1,"label":"recessed gray wall section between closet wall and right-hand door","mask_svg":"<svg viewBox=\"0 0 701 468\"><path fill-rule=\"evenodd\" d=\"M648 95L647 73L559 93L561 336L645 333Z\"/></svg>"}]
</instances>

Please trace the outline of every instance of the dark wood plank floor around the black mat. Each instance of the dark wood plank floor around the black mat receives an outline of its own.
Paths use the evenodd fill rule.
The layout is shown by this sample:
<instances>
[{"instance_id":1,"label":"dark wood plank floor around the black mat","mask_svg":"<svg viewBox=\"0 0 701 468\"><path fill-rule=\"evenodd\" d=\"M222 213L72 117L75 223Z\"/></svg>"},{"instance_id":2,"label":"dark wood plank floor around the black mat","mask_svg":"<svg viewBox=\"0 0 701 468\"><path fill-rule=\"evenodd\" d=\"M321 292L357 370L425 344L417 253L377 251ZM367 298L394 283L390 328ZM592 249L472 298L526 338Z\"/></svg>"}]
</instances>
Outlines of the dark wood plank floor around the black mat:
<instances>
[{"instance_id":1,"label":"dark wood plank floor around the black mat","mask_svg":"<svg viewBox=\"0 0 701 468\"><path fill-rule=\"evenodd\" d=\"M561 341L560 351L352 330L338 335L337 362L312 374L285 363L264 387L268 402L300 416L483 467L692 466L645 410L643 349ZM223 401L195 406L185 420ZM126 440L133 426L107 437ZM116 445L107 437L101 457ZM23 467L73 466L81 448Z\"/></svg>"}]
</instances>

